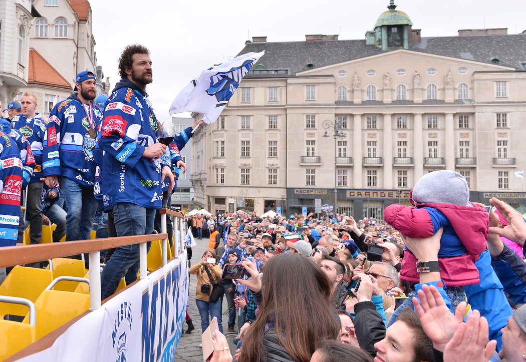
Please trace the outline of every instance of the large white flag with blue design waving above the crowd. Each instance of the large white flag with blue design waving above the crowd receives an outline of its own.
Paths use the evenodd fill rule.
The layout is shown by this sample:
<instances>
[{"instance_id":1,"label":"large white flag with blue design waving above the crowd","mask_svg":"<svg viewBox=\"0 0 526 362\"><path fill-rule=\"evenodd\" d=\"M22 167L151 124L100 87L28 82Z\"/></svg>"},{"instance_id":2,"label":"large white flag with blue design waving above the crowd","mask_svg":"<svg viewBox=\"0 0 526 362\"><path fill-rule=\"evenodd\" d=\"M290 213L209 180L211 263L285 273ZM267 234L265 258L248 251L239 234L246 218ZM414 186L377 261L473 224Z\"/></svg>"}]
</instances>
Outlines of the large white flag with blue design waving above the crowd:
<instances>
[{"instance_id":1,"label":"large white flag with blue design waving above the crowd","mask_svg":"<svg viewBox=\"0 0 526 362\"><path fill-rule=\"evenodd\" d=\"M214 123L234 95L241 79L265 54L246 53L203 70L192 80L170 106L170 115L179 112L198 112L205 115L206 123Z\"/></svg>"}]
</instances>

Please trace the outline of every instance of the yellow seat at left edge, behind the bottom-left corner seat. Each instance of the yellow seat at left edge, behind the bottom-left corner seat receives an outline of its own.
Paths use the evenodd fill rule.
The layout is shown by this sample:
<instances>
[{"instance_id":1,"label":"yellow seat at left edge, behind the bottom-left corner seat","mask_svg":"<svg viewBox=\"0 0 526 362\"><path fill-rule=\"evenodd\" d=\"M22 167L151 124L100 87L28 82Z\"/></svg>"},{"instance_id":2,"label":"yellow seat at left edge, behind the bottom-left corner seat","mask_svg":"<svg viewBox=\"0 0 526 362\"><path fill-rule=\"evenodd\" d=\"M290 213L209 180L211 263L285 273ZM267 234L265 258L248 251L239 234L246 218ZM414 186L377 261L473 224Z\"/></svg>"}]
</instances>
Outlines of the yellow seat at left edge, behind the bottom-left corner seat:
<instances>
[{"instance_id":1,"label":"yellow seat at left edge, behind the bottom-left corner seat","mask_svg":"<svg viewBox=\"0 0 526 362\"><path fill-rule=\"evenodd\" d=\"M0 295L26 298L35 303L38 296L53 281L53 272L44 269L15 266L0 285ZM27 307L21 304L0 303L0 319L6 315L25 316Z\"/></svg>"}]
</instances>

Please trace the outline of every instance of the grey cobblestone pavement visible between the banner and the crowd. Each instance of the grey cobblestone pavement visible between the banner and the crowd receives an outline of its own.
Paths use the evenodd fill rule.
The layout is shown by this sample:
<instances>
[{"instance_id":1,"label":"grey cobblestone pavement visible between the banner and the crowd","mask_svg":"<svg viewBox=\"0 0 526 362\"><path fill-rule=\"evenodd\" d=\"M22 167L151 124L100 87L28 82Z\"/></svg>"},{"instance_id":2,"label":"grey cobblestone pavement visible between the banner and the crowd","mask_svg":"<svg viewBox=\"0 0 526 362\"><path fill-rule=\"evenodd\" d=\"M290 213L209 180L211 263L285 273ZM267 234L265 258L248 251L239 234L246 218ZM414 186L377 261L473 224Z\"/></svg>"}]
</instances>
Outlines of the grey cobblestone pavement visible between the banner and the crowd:
<instances>
[{"instance_id":1,"label":"grey cobblestone pavement visible between the banner and the crowd","mask_svg":"<svg viewBox=\"0 0 526 362\"><path fill-rule=\"evenodd\" d=\"M197 246L194 246L192 248L192 258L190 260L191 265L194 265L199 260L201 260L201 255L205 252L205 250L208 248L208 239L203 238L203 240L196 240ZM185 334L183 332L183 336L181 336L181 339L179 340L179 345L177 346L176 354L175 354L175 360L176 361L186 361L186 362L198 362L203 361L203 350L199 348L199 344L201 343L201 318L199 317L199 311L197 310L197 306L195 303L195 296L196 296L196 284L197 284L197 278L195 275L190 275L190 287L189 287L189 297L188 297L188 306L187 310L188 313L190 313L190 317L192 318L192 322L194 323L194 326L196 329L193 330L190 334ZM225 314L225 312L228 311L227 307L227 301L226 298L223 300L223 315L222 315L222 324L223 324L223 332L226 333L228 329L227 321L228 321L228 313ZM186 330L187 325L185 323L184 330ZM230 350L232 353L236 350L236 346L232 344L232 339L236 338L236 335L232 333L226 333L225 334L227 339L230 342Z\"/></svg>"}]
</instances>

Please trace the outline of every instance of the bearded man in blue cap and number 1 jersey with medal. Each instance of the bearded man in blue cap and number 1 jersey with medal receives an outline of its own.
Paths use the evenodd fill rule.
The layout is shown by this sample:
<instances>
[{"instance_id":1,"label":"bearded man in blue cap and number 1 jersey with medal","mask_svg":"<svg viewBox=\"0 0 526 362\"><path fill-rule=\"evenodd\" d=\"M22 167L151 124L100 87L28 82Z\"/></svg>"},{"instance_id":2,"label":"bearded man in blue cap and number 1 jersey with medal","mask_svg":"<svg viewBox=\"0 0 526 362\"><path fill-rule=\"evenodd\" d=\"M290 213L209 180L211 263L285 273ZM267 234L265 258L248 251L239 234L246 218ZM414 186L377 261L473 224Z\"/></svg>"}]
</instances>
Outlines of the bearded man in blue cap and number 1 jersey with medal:
<instances>
[{"instance_id":1,"label":"bearded man in blue cap and number 1 jersey with medal","mask_svg":"<svg viewBox=\"0 0 526 362\"><path fill-rule=\"evenodd\" d=\"M102 111L93 102L95 73L81 71L75 81L75 92L49 113L43 152L46 185L58 185L66 199L66 241L89 239L97 210L93 153Z\"/></svg>"}]
</instances>

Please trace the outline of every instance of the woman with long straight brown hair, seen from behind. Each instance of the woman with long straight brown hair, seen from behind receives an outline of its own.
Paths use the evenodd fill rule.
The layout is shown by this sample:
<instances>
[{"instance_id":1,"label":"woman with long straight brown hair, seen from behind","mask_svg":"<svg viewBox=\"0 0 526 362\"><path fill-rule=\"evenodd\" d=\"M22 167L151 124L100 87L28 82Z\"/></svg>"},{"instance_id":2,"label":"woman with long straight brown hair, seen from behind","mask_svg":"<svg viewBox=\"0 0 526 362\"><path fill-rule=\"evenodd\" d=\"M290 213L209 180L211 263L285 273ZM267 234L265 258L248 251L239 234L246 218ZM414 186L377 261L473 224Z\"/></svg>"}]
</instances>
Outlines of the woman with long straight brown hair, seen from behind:
<instances>
[{"instance_id":1,"label":"woman with long straight brown hair, seen from behind","mask_svg":"<svg viewBox=\"0 0 526 362\"><path fill-rule=\"evenodd\" d=\"M323 339L337 339L339 319L329 279L310 257L279 254L265 265L261 311L247 329L239 360L307 362Z\"/></svg>"}]
</instances>

